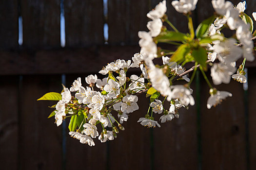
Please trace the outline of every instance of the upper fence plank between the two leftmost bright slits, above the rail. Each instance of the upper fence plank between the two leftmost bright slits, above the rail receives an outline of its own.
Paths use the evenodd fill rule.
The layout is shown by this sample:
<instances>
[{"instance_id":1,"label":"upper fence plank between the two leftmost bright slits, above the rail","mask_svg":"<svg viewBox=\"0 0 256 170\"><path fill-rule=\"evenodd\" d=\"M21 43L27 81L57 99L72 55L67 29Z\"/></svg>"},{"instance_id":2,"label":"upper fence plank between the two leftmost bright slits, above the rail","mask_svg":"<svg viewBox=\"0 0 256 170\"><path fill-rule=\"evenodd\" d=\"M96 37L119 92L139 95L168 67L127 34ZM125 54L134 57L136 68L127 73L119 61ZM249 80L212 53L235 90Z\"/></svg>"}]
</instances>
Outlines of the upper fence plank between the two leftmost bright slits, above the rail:
<instances>
[{"instance_id":1,"label":"upper fence plank between the two leftmost bright slits, above the rail","mask_svg":"<svg viewBox=\"0 0 256 170\"><path fill-rule=\"evenodd\" d=\"M23 47L60 47L60 0L21 0Z\"/></svg>"}]
</instances>

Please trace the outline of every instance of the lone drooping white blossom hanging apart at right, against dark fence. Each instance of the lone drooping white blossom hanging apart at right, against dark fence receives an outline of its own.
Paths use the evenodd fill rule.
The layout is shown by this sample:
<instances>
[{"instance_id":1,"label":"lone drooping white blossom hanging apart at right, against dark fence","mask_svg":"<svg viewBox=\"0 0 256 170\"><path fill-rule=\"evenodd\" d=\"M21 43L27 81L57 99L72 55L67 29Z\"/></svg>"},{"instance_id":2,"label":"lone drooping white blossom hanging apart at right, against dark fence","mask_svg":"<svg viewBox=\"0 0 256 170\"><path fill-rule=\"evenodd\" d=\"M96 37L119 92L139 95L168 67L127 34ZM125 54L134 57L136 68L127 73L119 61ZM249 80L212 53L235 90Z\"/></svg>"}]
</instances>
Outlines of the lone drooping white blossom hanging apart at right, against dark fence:
<instances>
[{"instance_id":1,"label":"lone drooping white blossom hanging apart at right, against dark fence","mask_svg":"<svg viewBox=\"0 0 256 170\"><path fill-rule=\"evenodd\" d=\"M210 92L213 91L213 89L210 89ZM227 91L216 91L215 94L211 94L211 96L207 100L207 108L210 109L212 106L216 106L220 102L222 102L223 99L226 99L227 97L232 97L232 94Z\"/></svg>"}]
</instances>

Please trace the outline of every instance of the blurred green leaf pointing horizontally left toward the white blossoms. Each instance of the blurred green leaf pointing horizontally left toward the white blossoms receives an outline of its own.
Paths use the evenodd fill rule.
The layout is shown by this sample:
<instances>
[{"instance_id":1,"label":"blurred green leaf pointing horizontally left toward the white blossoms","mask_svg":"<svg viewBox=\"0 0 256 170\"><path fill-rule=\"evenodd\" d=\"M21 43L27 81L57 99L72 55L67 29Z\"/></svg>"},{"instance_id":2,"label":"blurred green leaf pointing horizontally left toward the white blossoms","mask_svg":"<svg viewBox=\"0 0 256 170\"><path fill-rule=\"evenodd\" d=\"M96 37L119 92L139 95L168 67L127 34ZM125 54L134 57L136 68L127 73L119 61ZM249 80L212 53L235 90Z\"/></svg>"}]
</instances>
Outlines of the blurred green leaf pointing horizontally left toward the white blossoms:
<instances>
[{"instance_id":1,"label":"blurred green leaf pointing horizontally left toward the white blossoms","mask_svg":"<svg viewBox=\"0 0 256 170\"><path fill-rule=\"evenodd\" d=\"M166 31L160 33L155 40L158 42L168 42L168 41L185 41L187 40L187 35L180 33L180 32L175 32L175 31Z\"/></svg>"}]
</instances>

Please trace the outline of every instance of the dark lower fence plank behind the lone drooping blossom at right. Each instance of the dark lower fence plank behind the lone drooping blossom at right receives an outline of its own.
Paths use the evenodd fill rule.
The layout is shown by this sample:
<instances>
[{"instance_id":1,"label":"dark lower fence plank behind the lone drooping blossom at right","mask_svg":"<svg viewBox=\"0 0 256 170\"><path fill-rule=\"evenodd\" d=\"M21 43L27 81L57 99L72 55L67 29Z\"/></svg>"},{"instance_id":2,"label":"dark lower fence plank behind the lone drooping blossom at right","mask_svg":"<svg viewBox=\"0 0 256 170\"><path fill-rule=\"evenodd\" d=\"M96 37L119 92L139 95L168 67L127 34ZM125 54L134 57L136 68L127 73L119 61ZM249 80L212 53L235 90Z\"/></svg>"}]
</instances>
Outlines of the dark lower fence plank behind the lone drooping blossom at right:
<instances>
[{"instance_id":1,"label":"dark lower fence plank behind the lone drooping blossom at right","mask_svg":"<svg viewBox=\"0 0 256 170\"><path fill-rule=\"evenodd\" d=\"M209 76L210 77L210 76ZM233 97L220 105L206 108L209 87L201 88L202 169L246 170L245 114L242 85L231 80L229 85L217 85Z\"/></svg>"}]
</instances>

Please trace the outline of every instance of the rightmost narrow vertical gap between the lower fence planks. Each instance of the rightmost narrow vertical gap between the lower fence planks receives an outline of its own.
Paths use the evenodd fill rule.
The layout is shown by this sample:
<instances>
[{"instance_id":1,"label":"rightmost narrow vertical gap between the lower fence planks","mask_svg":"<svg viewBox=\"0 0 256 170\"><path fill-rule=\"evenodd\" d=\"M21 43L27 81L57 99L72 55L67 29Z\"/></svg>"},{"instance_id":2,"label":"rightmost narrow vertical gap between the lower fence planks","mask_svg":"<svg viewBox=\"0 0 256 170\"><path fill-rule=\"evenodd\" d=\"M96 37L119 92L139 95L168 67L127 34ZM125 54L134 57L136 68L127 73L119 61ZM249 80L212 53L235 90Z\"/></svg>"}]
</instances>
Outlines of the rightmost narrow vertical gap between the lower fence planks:
<instances>
[{"instance_id":1,"label":"rightmost narrow vertical gap between the lower fence planks","mask_svg":"<svg viewBox=\"0 0 256 170\"><path fill-rule=\"evenodd\" d=\"M244 114L245 114L245 148L247 170L250 170L250 143L249 143L249 104L248 104L248 69L244 68L247 82L243 84L244 90Z\"/></svg>"}]
</instances>

